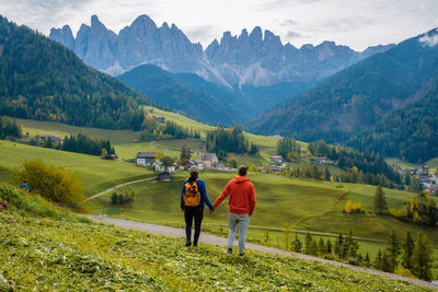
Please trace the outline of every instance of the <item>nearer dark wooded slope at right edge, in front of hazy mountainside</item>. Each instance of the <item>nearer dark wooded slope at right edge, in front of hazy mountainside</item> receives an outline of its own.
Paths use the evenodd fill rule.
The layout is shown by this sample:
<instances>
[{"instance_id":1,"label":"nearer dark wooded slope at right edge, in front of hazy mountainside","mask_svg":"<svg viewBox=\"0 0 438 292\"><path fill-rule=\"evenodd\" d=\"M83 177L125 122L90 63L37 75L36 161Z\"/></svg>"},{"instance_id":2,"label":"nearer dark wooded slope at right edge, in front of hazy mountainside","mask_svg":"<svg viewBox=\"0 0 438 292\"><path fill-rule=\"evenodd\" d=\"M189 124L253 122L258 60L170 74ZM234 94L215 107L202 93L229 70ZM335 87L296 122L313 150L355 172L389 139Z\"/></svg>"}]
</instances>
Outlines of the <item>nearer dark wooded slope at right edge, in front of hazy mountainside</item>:
<instances>
[{"instance_id":1,"label":"nearer dark wooded slope at right edge, in front of hazy mountainside","mask_svg":"<svg viewBox=\"0 0 438 292\"><path fill-rule=\"evenodd\" d=\"M388 157L423 163L438 153L438 79L424 96L395 110L374 127L347 141L361 151L378 151Z\"/></svg>"}]
</instances>

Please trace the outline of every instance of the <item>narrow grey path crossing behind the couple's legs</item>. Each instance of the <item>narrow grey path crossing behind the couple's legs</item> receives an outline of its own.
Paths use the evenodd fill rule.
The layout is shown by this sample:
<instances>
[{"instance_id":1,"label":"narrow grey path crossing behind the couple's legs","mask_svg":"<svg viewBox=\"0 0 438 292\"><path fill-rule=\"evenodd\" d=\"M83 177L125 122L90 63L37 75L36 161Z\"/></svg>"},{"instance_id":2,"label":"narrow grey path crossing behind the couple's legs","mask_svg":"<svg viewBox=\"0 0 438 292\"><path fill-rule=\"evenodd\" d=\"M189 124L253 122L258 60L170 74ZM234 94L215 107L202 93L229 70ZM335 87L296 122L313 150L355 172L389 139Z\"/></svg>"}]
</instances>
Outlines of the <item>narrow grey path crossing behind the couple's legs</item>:
<instances>
[{"instance_id":1,"label":"narrow grey path crossing behind the couple's legs","mask_svg":"<svg viewBox=\"0 0 438 292\"><path fill-rule=\"evenodd\" d=\"M115 218L110 218L110 217L89 215L89 218L94 221L97 221L97 222L113 224L115 226L123 227L123 229L145 231L145 232L152 233L152 234L165 235L165 236L172 236L172 237L185 237L184 229L175 229L175 227L142 223L142 222L137 222L137 221L124 220L124 219L115 219ZM212 244L212 245L227 246L228 240L217 236L217 235L208 234L208 233L200 233L199 242ZM234 244L237 244L237 242ZM433 284L430 282L415 280L415 279L411 279L411 278L406 278L406 277L402 277L402 276L397 276L397 275L393 275L393 273L388 273L388 272L383 272L383 271L372 270L372 269L368 269L368 268L356 267L356 266L351 266L351 265L347 265L347 264L343 264L343 262L338 262L338 261L334 261L334 260L327 260L327 259L312 257L312 256L308 256L308 255L290 253L290 252L286 252L286 250L278 249L275 247L252 244L252 243L246 243L245 247L249 249L253 249L253 250L260 250L260 252L279 254L279 255L287 255L287 256L295 256L295 257L307 259L307 260L314 260L314 261L319 261L319 262L323 262L323 264L342 266L342 267L346 267L349 269L366 271L369 273L383 276L383 277L387 277L387 278L390 278L393 280L403 280L403 281L407 281L407 282L411 282L411 283L414 283L417 285L438 290L438 284Z\"/></svg>"}]
</instances>

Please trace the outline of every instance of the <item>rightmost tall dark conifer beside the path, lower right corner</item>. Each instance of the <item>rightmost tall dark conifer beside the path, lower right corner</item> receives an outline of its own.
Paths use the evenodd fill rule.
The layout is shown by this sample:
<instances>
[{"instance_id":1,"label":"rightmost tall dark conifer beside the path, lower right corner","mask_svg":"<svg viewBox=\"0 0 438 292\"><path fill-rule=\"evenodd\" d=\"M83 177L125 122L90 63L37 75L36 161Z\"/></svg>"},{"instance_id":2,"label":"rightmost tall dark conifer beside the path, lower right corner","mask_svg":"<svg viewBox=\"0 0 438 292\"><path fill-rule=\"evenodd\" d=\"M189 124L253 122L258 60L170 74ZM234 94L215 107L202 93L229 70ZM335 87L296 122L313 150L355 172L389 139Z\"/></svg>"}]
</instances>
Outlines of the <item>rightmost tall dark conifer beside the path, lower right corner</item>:
<instances>
[{"instance_id":1,"label":"rightmost tall dark conifer beside the path, lower right corner","mask_svg":"<svg viewBox=\"0 0 438 292\"><path fill-rule=\"evenodd\" d=\"M413 273L419 279L430 281L431 279L431 245L429 238L418 234L413 254Z\"/></svg>"}]
</instances>

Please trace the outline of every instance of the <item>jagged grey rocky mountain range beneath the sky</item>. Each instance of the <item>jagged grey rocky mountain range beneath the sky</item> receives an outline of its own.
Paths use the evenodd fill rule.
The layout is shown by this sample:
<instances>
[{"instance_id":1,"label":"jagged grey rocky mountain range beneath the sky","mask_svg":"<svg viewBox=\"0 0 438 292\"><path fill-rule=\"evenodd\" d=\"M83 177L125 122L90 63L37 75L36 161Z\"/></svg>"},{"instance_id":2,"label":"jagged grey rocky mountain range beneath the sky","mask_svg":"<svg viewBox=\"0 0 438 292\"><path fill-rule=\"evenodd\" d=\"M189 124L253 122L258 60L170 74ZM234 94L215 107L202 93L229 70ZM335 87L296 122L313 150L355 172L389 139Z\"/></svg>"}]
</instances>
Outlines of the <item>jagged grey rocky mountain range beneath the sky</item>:
<instances>
[{"instance_id":1,"label":"jagged grey rocky mountain range beneath the sky","mask_svg":"<svg viewBox=\"0 0 438 292\"><path fill-rule=\"evenodd\" d=\"M91 26L82 24L74 38L68 25L51 28L51 39L74 51L87 65L112 75L139 65L151 63L171 72L193 72L206 80L230 86L266 86L279 82L314 82L388 47L364 52L324 42L300 49L283 45L279 36L255 27L232 36L226 32L204 51L174 24L158 27L147 15L137 17L118 35L97 16Z\"/></svg>"}]
</instances>

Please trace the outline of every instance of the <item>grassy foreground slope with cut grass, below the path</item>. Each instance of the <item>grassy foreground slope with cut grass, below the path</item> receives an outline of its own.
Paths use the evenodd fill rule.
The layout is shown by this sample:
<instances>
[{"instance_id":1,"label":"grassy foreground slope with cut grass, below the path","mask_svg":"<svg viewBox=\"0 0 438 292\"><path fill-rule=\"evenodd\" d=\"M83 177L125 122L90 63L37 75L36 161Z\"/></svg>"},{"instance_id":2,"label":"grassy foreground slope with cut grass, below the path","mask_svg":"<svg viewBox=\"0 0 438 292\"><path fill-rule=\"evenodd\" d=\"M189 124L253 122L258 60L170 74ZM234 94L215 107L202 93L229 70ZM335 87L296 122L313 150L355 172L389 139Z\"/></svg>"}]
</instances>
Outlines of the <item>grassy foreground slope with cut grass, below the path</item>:
<instances>
[{"instance_id":1,"label":"grassy foreground slope with cut grass, below the path","mask_svg":"<svg viewBox=\"0 0 438 292\"><path fill-rule=\"evenodd\" d=\"M238 258L205 244L185 248L181 240L74 218L0 211L0 290L426 291L293 257L247 252Z\"/></svg>"}]
</instances>

